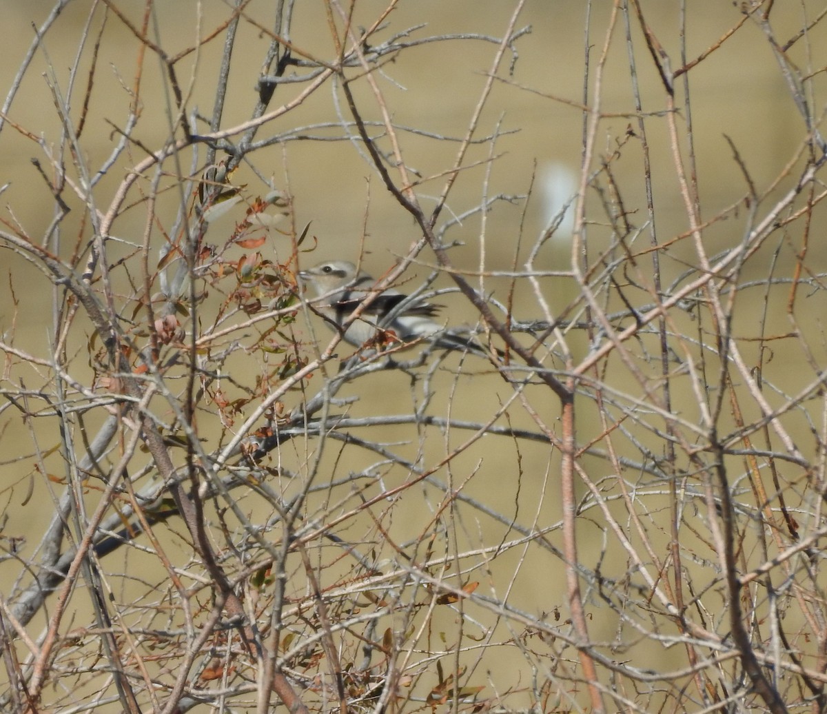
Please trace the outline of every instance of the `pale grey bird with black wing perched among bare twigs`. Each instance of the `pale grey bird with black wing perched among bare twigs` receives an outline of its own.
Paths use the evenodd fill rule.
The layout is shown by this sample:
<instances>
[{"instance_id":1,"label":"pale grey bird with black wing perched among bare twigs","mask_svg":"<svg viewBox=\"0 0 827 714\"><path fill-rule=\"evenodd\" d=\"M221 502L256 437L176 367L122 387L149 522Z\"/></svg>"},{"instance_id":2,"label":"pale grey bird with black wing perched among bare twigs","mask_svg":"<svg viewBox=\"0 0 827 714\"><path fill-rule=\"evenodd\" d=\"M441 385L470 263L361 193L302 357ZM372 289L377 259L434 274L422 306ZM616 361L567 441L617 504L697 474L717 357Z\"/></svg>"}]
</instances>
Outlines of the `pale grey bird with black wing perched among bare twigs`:
<instances>
[{"instance_id":1,"label":"pale grey bird with black wing perched among bare twigs","mask_svg":"<svg viewBox=\"0 0 827 714\"><path fill-rule=\"evenodd\" d=\"M319 263L299 272L299 280L313 289L318 299L313 301L314 306L334 329L341 329L362 301L376 292L376 280L364 271L356 271L356 266L348 261ZM393 288L382 290L359 317L347 325L343 338L356 347L427 340L440 349L490 357L471 333L448 331L437 323L433 318L440 307L409 298Z\"/></svg>"}]
</instances>

